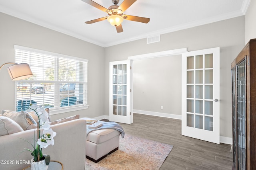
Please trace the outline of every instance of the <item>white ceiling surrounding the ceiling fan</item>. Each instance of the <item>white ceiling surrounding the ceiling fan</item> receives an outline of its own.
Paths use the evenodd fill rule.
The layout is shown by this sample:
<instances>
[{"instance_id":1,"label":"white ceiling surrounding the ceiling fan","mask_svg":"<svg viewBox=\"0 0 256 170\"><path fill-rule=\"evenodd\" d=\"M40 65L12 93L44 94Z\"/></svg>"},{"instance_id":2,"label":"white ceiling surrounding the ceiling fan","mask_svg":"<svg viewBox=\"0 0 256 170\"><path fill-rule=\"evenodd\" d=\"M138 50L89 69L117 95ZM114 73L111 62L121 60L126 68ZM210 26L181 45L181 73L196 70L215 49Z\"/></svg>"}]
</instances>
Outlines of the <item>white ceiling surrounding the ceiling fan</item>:
<instances>
[{"instance_id":1,"label":"white ceiling surrounding the ceiling fan","mask_svg":"<svg viewBox=\"0 0 256 170\"><path fill-rule=\"evenodd\" d=\"M113 5L111 0L94 2L105 8ZM81 0L0 0L0 12L108 47L242 16L249 4L250 0L137 0L124 14L150 18L150 22L124 20L122 33L107 20L84 23L108 15Z\"/></svg>"}]
</instances>

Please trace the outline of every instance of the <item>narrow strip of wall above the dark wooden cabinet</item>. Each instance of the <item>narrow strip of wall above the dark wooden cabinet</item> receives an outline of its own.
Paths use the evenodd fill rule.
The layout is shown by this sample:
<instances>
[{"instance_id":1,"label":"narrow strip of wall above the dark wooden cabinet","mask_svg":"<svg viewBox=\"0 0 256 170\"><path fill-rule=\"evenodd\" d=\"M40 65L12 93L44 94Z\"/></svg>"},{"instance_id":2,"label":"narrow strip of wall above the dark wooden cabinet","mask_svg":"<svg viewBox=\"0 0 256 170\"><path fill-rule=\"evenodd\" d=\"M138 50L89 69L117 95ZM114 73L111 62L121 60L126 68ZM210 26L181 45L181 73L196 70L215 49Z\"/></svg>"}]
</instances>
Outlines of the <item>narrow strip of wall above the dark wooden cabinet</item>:
<instances>
[{"instance_id":1,"label":"narrow strip of wall above the dark wooden cabinet","mask_svg":"<svg viewBox=\"0 0 256 170\"><path fill-rule=\"evenodd\" d=\"M256 1L251 0L250 6L245 15L245 44L250 39L256 38Z\"/></svg>"}]
</instances>

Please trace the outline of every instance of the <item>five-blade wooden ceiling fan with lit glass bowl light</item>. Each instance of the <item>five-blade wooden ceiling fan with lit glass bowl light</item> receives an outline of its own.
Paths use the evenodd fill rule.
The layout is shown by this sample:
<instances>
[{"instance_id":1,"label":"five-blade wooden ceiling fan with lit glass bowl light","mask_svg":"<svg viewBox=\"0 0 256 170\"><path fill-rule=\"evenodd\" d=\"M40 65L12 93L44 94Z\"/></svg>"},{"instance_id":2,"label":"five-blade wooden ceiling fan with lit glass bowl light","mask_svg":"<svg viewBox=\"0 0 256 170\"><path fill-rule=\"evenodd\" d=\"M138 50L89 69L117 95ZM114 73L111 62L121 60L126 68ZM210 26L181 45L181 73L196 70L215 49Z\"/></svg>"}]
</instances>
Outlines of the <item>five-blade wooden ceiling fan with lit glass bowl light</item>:
<instances>
[{"instance_id":1,"label":"five-blade wooden ceiling fan with lit glass bowl light","mask_svg":"<svg viewBox=\"0 0 256 170\"><path fill-rule=\"evenodd\" d=\"M116 31L118 33L123 32L122 28L122 21L124 20L130 20L130 21L137 21L142 23L148 23L150 18L144 18L144 17L138 17L138 16L130 16L123 14L127 8L129 8L136 0L124 0L120 6L118 6L119 0L112 0L113 4L108 9L104 8L100 4L97 4L96 2L92 0L82 0L83 2L90 4L91 6L94 6L95 8L98 8L99 10L102 10L106 12L109 16L98 18L91 21L86 21L85 23L91 24L98 21L108 20L111 25L116 27Z\"/></svg>"}]
</instances>

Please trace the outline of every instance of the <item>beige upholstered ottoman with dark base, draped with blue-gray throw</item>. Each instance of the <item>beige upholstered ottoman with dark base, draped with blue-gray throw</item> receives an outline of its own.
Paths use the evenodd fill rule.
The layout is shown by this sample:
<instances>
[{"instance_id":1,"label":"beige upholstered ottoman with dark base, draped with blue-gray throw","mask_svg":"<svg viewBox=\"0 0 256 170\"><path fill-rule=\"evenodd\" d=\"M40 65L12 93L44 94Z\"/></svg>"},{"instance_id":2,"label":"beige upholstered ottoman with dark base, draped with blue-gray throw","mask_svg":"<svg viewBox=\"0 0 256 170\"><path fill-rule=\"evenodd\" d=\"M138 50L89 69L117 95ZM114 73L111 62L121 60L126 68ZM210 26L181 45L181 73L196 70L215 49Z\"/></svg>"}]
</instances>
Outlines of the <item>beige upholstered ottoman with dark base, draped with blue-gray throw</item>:
<instances>
[{"instance_id":1,"label":"beige upholstered ottoman with dark base, draped with blue-gray throw","mask_svg":"<svg viewBox=\"0 0 256 170\"><path fill-rule=\"evenodd\" d=\"M86 158L97 163L108 154L118 150L120 131L100 129L92 131L86 139Z\"/></svg>"}]
</instances>

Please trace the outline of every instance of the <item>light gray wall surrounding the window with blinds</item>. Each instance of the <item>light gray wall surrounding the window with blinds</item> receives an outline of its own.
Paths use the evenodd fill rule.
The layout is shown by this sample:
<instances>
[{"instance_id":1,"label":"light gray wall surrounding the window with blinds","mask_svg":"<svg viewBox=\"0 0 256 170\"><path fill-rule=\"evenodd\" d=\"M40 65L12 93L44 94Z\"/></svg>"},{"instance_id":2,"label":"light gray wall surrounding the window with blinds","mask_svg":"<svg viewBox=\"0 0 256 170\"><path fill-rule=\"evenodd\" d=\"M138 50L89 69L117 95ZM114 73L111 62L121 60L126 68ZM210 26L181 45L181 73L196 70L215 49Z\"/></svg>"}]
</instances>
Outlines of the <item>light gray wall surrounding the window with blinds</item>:
<instances>
[{"instance_id":1,"label":"light gray wall surrounding the window with blinds","mask_svg":"<svg viewBox=\"0 0 256 170\"><path fill-rule=\"evenodd\" d=\"M98 117L103 113L104 48L57 31L0 13L0 65L15 61L14 45L89 59L88 104L89 109L52 115L52 120L70 115ZM86 31L86 30L85 30ZM0 71L0 110L14 110L14 82L10 80L7 66Z\"/></svg>"}]
</instances>

